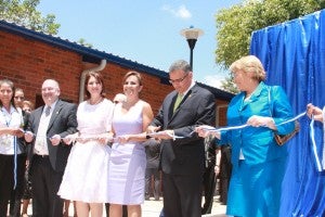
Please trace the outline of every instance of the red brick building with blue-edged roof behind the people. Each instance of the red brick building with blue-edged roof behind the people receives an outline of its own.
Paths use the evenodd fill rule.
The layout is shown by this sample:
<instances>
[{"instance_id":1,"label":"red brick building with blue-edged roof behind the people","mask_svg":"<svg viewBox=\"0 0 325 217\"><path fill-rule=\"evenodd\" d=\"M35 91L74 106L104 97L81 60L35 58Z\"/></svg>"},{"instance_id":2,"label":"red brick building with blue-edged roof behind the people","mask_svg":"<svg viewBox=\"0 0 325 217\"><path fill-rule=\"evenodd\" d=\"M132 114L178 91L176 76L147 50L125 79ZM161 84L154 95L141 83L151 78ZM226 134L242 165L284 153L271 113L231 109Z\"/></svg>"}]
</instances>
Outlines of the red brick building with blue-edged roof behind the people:
<instances>
[{"instance_id":1,"label":"red brick building with blue-edged roof behind the people","mask_svg":"<svg viewBox=\"0 0 325 217\"><path fill-rule=\"evenodd\" d=\"M108 99L122 92L122 77L127 72L141 73L144 81L141 98L152 105L155 114L173 89L164 71L0 21L0 79L11 79L36 106L42 104L40 88L47 78L60 82L62 99L78 103L82 97L79 95L81 74L91 68L101 68ZM233 94L200 85L214 94L217 124L224 126L226 106Z\"/></svg>"}]
</instances>

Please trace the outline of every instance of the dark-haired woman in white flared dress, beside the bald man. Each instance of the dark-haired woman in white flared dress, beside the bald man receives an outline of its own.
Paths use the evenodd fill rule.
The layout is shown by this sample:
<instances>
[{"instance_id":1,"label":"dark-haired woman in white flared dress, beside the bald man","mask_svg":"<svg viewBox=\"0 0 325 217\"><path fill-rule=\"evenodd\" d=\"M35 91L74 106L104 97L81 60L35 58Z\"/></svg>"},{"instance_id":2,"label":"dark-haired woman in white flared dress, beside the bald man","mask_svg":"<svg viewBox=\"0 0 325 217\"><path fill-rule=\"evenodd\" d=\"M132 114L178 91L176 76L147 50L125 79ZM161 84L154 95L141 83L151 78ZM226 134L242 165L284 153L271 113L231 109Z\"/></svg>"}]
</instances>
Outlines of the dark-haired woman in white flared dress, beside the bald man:
<instances>
[{"instance_id":1,"label":"dark-haired woman in white flared dress, beside the bald man","mask_svg":"<svg viewBox=\"0 0 325 217\"><path fill-rule=\"evenodd\" d=\"M77 111L78 132L65 138L74 144L68 157L58 195L76 201L78 217L102 217L103 203L108 202L108 161L114 105L104 98L100 73L86 75L88 100Z\"/></svg>"}]
</instances>

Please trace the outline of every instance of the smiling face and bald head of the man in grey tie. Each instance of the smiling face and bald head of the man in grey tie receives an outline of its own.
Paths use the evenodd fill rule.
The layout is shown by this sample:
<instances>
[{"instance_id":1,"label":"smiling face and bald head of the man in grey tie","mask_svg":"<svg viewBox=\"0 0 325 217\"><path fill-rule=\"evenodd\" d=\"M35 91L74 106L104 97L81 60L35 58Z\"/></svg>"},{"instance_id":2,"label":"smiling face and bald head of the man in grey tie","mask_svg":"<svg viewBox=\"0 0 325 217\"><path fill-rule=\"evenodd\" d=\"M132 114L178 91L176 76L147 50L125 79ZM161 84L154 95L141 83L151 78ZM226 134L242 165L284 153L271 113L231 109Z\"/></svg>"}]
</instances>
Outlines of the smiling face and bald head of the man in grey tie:
<instances>
[{"instance_id":1,"label":"smiling face and bald head of the man in grey tie","mask_svg":"<svg viewBox=\"0 0 325 217\"><path fill-rule=\"evenodd\" d=\"M48 79L42 85L42 99L47 105L54 103L60 95L60 87L55 80Z\"/></svg>"}]
</instances>

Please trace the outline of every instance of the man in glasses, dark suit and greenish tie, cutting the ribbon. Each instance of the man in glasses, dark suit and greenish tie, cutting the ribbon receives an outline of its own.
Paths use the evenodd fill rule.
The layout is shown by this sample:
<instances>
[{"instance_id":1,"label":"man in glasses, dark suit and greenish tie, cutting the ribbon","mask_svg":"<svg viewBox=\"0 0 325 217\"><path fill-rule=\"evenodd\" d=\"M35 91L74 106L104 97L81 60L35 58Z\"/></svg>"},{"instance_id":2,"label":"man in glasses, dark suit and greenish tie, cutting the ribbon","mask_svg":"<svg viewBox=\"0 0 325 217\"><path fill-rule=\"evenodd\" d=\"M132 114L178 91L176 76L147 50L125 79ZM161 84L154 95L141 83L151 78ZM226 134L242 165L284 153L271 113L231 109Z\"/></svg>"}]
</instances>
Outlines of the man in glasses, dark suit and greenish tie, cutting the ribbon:
<instances>
[{"instance_id":1,"label":"man in glasses, dark suit and greenish tie, cutting the ribbon","mask_svg":"<svg viewBox=\"0 0 325 217\"><path fill-rule=\"evenodd\" d=\"M205 167L204 139L193 133L198 125L214 125L216 100L193 80L191 66L177 61L169 68L174 91L164 100L147 132L161 139L160 167L164 213L168 217L199 217ZM181 138L174 138L181 137Z\"/></svg>"}]
</instances>

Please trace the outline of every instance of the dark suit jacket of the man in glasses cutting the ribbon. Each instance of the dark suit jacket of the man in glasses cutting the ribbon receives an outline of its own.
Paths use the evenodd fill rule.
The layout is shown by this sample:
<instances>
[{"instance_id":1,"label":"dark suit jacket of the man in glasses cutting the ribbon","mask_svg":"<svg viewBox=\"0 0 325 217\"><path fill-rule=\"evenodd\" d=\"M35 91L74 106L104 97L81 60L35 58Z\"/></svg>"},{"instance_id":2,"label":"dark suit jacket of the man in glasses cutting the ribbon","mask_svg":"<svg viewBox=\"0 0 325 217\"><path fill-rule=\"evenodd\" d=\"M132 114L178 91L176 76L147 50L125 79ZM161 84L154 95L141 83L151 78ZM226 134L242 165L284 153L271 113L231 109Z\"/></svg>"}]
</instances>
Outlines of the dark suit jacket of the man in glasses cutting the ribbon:
<instances>
[{"instance_id":1,"label":"dark suit jacket of the man in glasses cutting the ribbon","mask_svg":"<svg viewBox=\"0 0 325 217\"><path fill-rule=\"evenodd\" d=\"M177 140L162 140L160 168L171 175L202 175L204 171L204 139L193 130L198 125L214 125L216 99L208 90L195 85L173 112L178 92L169 93L154 118L153 126L172 129Z\"/></svg>"}]
</instances>

